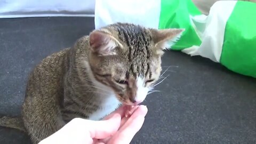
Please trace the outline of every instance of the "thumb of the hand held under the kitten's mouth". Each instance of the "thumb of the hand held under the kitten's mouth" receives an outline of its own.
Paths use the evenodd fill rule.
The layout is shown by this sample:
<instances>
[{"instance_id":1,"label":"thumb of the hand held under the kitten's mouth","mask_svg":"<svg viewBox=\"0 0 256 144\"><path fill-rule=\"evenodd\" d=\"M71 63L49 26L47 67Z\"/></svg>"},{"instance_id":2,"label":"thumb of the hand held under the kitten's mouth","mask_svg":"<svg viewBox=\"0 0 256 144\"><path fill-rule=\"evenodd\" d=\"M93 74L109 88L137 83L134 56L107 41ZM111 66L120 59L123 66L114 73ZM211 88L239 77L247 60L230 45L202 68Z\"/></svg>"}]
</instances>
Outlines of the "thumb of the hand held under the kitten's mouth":
<instances>
[{"instance_id":1,"label":"thumb of the hand held under the kitten's mouth","mask_svg":"<svg viewBox=\"0 0 256 144\"><path fill-rule=\"evenodd\" d=\"M88 125L91 138L108 138L117 132L120 124L121 116L119 114L115 114L113 117L105 121L89 121Z\"/></svg>"}]
</instances>

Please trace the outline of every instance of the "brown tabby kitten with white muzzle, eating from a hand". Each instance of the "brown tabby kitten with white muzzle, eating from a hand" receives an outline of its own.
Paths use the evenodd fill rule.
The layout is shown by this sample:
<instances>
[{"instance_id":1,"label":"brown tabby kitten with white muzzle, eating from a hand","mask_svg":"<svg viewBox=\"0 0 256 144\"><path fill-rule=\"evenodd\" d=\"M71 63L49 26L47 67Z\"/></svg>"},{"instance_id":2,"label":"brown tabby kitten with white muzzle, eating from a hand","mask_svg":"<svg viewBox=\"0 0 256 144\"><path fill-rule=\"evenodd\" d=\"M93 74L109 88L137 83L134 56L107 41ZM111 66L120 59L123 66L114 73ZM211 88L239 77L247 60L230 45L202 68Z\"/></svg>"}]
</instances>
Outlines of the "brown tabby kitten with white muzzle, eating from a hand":
<instances>
[{"instance_id":1,"label":"brown tabby kitten with white muzzle, eating from a hand","mask_svg":"<svg viewBox=\"0 0 256 144\"><path fill-rule=\"evenodd\" d=\"M183 29L115 23L42 60L29 76L22 118L0 125L38 143L71 119L99 120L120 105L138 105L161 73L161 56Z\"/></svg>"}]
</instances>

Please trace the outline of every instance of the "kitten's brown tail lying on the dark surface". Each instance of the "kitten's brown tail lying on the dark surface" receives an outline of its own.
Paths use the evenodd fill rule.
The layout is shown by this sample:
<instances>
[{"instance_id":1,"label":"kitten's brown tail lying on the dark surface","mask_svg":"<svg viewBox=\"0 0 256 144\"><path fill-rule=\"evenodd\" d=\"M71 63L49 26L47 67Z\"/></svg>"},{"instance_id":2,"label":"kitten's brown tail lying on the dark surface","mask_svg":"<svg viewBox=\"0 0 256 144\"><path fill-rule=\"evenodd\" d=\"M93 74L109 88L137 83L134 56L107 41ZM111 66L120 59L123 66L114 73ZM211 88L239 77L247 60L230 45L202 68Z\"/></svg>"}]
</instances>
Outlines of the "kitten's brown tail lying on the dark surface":
<instances>
[{"instance_id":1,"label":"kitten's brown tail lying on the dark surface","mask_svg":"<svg viewBox=\"0 0 256 144\"><path fill-rule=\"evenodd\" d=\"M0 118L0 126L10 127L13 129L18 129L20 131L26 132L25 126L21 117L7 117L3 116Z\"/></svg>"}]
</instances>

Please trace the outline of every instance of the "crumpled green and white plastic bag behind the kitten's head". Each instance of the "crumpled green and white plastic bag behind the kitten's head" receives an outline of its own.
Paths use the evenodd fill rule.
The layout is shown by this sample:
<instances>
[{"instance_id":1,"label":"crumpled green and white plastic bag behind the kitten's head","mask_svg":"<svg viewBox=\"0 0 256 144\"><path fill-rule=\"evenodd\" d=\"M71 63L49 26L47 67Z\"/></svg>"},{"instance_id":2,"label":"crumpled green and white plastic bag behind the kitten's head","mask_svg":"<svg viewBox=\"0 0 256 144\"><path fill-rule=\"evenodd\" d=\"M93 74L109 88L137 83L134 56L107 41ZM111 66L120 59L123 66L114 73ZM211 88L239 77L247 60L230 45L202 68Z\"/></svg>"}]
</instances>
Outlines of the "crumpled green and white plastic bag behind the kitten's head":
<instances>
[{"instance_id":1,"label":"crumpled green and white plastic bag behind the kitten's head","mask_svg":"<svg viewBox=\"0 0 256 144\"><path fill-rule=\"evenodd\" d=\"M201 55L256 78L256 4L218 1L203 15L190 0L97 0L95 28L130 22L150 28L185 28L170 49Z\"/></svg>"}]
</instances>

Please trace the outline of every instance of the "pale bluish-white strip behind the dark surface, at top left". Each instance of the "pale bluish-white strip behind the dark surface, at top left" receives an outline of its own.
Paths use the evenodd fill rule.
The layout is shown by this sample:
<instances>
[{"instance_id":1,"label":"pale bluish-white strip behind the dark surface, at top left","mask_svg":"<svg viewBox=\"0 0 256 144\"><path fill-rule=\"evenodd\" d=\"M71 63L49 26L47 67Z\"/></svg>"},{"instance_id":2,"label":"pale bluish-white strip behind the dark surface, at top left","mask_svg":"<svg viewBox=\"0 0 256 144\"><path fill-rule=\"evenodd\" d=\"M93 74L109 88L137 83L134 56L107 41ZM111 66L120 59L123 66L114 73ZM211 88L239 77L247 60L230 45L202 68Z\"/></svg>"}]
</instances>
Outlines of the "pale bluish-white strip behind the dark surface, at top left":
<instances>
[{"instance_id":1,"label":"pale bluish-white strip behind the dark surface, at top left","mask_svg":"<svg viewBox=\"0 0 256 144\"><path fill-rule=\"evenodd\" d=\"M0 0L0 18L93 17L95 0Z\"/></svg>"}]
</instances>

